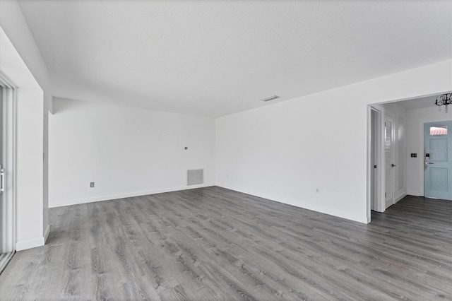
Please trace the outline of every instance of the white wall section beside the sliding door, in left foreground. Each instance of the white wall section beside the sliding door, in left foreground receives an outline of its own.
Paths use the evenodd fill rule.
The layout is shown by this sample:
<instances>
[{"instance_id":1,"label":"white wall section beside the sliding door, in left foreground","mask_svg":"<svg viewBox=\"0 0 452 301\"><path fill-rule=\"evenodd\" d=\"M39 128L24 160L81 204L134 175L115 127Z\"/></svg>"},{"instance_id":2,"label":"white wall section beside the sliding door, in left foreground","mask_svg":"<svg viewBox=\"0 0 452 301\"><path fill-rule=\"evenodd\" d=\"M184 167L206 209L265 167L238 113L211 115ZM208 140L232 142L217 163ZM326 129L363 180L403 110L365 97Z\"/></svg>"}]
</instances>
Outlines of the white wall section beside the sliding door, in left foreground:
<instances>
[{"instance_id":1,"label":"white wall section beside the sliding door, in left foreground","mask_svg":"<svg viewBox=\"0 0 452 301\"><path fill-rule=\"evenodd\" d=\"M23 74L14 73L9 76L6 73L19 88L28 90L28 93L20 94L24 95L25 98L18 99L17 126L18 129L21 129L17 132L18 143L22 141L23 145L29 145L30 141L40 141L40 143L34 144L32 148L18 150L21 153L16 158L18 165L20 164L19 160L30 163L30 165L24 165L23 170L18 170L18 172L35 175L35 177L26 175L20 177L20 175L17 175L19 179L16 183L18 198L16 249L20 250L44 244L44 239L49 231L47 163L42 164L42 155L47 153L47 132L42 129L46 126L44 123L48 114L45 108L51 100L49 73L17 1L1 1L0 26L8 36L8 40L11 41L15 51L20 55L20 61L25 63L27 72L32 74L39 85L37 90L40 90L40 92L35 90L34 95L32 95L33 93L28 90L30 86L20 83L20 81L23 81ZM1 66L1 69L4 69L4 67L6 66ZM27 102L30 106L25 105ZM21 110L24 111L21 112ZM40 132L37 132L37 130L40 130ZM24 179L24 181L20 182L20 179ZM40 189L36 189L37 184L41 185Z\"/></svg>"}]
</instances>

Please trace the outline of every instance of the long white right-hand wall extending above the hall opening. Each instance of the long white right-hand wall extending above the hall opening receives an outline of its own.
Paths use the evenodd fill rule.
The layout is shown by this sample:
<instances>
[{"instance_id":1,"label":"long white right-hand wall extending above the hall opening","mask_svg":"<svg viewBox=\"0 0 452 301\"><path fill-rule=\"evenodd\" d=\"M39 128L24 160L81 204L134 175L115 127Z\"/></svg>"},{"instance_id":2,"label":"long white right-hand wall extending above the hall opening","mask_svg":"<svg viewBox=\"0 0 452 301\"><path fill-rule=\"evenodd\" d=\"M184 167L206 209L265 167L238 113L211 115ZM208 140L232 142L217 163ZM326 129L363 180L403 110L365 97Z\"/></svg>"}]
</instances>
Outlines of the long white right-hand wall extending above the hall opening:
<instances>
[{"instance_id":1,"label":"long white right-hand wall extending above the hall opening","mask_svg":"<svg viewBox=\"0 0 452 301\"><path fill-rule=\"evenodd\" d=\"M451 71L443 61L219 118L217 184L367 223L367 105L452 90Z\"/></svg>"}]
</instances>

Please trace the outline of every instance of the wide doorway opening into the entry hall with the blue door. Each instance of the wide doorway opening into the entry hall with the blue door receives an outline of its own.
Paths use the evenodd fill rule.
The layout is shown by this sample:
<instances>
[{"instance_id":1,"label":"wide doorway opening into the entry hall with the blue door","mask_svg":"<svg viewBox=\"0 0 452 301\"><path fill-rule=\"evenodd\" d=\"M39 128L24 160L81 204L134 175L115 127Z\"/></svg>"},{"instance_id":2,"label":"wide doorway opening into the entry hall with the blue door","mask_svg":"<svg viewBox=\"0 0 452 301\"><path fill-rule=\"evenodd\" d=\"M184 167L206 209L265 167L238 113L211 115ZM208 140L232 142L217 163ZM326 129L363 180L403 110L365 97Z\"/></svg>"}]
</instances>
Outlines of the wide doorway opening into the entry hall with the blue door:
<instances>
[{"instance_id":1,"label":"wide doorway opening into the entry hall with the blue door","mask_svg":"<svg viewBox=\"0 0 452 301\"><path fill-rule=\"evenodd\" d=\"M405 196L452 198L452 110L436 105L444 93L450 91L369 105L369 222L371 211L384 212Z\"/></svg>"}]
</instances>

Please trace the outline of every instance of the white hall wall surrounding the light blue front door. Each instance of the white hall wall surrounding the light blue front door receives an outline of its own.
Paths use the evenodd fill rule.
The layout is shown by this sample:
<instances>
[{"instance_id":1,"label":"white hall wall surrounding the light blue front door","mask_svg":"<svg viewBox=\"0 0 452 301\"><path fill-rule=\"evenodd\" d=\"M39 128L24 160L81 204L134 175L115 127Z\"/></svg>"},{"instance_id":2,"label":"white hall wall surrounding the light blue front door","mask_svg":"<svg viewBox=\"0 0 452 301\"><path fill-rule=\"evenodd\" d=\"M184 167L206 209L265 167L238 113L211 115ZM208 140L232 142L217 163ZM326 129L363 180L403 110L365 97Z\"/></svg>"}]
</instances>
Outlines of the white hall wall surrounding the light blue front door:
<instances>
[{"instance_id":1,"label":"white hall wall surrounding the light blue front door","mask_svg":"<svg viewBox=\"0 0 452 301\"><path fill-rule=\"evenodd\" d=\"M452 120L452 107L447 114L436 105L407 111L407 181L412 196L424 196L424 123L446 120ZM417 153L417 158L411 158L411 153Z\"/></svg>"}]
</instances>

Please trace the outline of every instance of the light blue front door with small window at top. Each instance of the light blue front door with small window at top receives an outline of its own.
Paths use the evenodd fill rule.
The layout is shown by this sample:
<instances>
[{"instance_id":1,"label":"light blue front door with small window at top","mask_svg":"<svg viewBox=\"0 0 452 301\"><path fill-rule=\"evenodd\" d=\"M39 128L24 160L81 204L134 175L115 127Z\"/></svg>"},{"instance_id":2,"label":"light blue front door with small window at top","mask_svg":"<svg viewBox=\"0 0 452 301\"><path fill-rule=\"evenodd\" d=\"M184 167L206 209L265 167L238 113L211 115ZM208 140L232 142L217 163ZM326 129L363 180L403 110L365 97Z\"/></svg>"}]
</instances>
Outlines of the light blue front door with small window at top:
<instances>
[{"instance_id":1,"label":"light blue front door with small window at top","mask_svg":"<svg viewBox=\"0 0 452 301\"><path fill-rule=\"evenodd\" d=\"M424 196L452 200L452 121L424 124Z\"/></svg>"}]
</instances>

